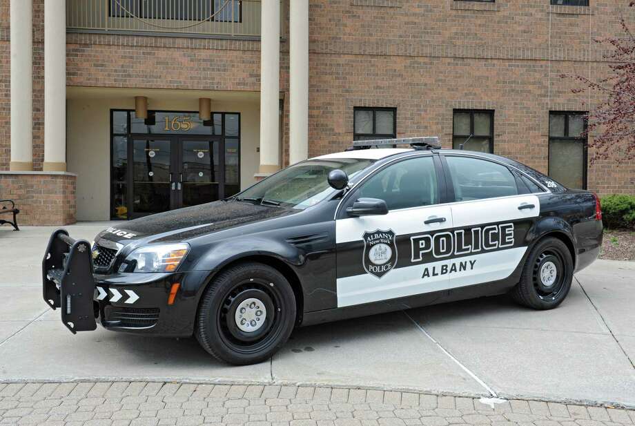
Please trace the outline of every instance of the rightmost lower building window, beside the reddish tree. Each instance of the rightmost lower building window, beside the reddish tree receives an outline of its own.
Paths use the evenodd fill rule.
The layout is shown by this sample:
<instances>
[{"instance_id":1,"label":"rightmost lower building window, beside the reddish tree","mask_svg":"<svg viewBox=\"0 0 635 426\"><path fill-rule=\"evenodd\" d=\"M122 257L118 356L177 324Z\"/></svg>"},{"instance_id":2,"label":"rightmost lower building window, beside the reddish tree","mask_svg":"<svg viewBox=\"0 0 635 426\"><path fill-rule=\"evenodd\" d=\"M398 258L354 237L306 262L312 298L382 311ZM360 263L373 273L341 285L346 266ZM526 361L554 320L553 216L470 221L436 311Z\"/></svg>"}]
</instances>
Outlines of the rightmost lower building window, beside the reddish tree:
<instances>
[{"instance_id":1,"label":"rightmost lower building window, beside the reddish tree","mask_svg":"<svg viewBox=\"0 0 635 426\"><path fill-rule=\"evenodd\" d=\"M549 113L549 176L587 188L587 113Z\"/></svg>"}]
</instances>

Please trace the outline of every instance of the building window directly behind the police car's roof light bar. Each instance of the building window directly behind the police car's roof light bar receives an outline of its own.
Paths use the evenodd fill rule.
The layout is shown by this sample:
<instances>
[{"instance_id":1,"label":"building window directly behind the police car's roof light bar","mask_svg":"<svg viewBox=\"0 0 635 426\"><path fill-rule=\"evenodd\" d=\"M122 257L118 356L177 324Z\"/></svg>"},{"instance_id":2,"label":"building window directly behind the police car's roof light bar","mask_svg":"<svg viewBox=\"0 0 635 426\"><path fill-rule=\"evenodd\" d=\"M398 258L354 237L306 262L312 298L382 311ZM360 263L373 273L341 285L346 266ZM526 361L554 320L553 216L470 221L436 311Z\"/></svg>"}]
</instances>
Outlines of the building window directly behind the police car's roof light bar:
<instances>
[{"instance_id":1,"label":"building window directly behind the police car's roof light bar","mask_svg":"<svg viewBox=\"0 0 635 426\"><path fill-rule=\"evenodd\" d=\"M397 137L397 108L355 107L354 139L391 139Z\"/></svg>"}]
</instances>

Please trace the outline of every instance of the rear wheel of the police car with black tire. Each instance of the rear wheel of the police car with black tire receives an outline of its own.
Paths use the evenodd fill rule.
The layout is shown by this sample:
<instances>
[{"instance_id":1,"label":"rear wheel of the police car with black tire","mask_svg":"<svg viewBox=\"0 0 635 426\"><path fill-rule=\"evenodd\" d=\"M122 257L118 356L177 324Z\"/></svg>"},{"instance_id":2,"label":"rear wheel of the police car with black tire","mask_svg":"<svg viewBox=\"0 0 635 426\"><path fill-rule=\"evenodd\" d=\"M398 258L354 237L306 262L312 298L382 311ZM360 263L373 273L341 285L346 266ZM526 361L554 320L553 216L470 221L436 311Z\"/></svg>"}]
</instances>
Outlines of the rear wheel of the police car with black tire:
<instances>
[{"instance_id":1,"label":"rear wheel of the police car with black tire","mask_svg":"<svg viewBox=\"0 0 635 426\"><path fill-rule=\"evenodd\" d=\"M558 238L547 237L531 249L511 296L526 307L554 309L567 297L573 276L569 248Z\"/></svg>"}]
</instances>

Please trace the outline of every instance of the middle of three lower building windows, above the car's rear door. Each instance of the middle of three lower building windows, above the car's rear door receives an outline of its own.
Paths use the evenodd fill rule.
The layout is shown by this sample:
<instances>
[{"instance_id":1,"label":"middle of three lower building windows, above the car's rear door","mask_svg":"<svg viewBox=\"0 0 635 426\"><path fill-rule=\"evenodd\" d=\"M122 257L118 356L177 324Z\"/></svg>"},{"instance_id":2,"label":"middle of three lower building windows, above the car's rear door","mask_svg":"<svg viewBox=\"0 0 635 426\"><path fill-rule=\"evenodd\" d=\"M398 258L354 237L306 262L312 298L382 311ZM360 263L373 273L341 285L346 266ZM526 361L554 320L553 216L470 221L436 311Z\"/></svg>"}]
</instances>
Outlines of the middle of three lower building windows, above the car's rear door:
<instances>
[{"instance_id":1,"label":"middle of three lower building windows, above the car's rear door","mask_svg":"<svg viewBox=\"0 0 635 426\"><path fill-rule=\"evenodd\" d=\"M452 127L454 149L494 153L494 111L454 110Z\"/></svg>"}]
</instances>

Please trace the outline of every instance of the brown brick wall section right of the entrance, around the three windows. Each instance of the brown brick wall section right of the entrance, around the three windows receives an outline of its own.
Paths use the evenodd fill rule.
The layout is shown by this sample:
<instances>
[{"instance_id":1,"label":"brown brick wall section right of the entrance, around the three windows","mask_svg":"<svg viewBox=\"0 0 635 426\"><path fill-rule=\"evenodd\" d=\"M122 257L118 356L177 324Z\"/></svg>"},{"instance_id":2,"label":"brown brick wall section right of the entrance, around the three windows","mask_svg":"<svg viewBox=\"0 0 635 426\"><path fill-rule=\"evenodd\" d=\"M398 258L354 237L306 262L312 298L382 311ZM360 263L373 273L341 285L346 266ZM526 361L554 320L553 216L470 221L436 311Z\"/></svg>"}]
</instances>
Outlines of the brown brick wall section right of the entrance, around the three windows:
<instances>
[{"instance_id":1,"label":"brown brick wall section right of the entrance, around the three windows","mask_svg":"<svg viewBox=\"0 0 635 426\"><path fill-rule=\"evenodd\" d=\"M548 0L310 5L311 156L349 146L354 106L396 107L399 137L440 135L445 147L453 108L493 109L494 152L545 173L549 110L590 110L599 101L596 93L571 93L576 83L560 74L605 77L605 52L594 40L619 34L621 15L635 23L635 8L621 0L594 0L591 8ZM288 88L286 43L282 56ZM286 122L288 112L286 105ZM288 146L287 137L285 161ZM588 186L635 193L635 162L589 162Z\"/></svg>"}]
</instances>

